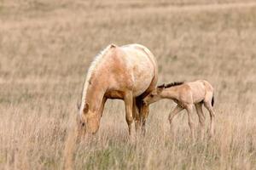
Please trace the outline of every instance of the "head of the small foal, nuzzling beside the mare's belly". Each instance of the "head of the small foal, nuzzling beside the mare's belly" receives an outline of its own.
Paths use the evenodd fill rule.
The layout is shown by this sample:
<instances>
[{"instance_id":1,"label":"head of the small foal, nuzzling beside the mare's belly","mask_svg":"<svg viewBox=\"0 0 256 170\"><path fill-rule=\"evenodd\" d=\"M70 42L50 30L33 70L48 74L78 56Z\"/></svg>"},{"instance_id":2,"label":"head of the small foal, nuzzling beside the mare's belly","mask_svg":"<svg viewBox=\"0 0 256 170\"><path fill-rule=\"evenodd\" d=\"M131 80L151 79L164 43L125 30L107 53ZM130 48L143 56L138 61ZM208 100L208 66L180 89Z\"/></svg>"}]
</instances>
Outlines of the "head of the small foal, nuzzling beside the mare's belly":
<instances>
[{"instance_id":1,"label":"head of the small foal, nuzzling beside the mare's belly","mask_svg":"<svg viewBox=\"0 0 256 170\"><path fill-rule=\"evenodd\" d=\"M145 105L152 104L156 102L157 100L161 99L160 94L162 93L163 89L165 88L165 84L162 84L155 88L150 94L148 94L144 99L143 103Z\"/></svg>"}]
</instances>

